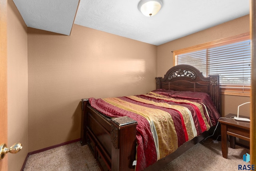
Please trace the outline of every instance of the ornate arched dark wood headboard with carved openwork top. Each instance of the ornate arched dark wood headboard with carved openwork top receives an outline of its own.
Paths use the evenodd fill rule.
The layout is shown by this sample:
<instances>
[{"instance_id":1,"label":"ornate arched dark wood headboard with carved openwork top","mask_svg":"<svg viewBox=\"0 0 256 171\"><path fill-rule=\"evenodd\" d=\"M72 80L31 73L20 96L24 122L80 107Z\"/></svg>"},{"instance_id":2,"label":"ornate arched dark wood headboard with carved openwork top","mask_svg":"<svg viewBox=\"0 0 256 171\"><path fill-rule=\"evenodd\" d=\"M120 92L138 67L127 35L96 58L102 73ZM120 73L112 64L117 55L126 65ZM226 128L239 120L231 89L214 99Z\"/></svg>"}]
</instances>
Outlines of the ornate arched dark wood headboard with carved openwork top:
<instances>
[{"instance_id":1,"label":"ornate arched dark wood headboard with carved openwork top","mask_svg":"<svg viewBox=\"0 0 256 171\"><path fill-rule=\"evenodd\" d=\"M156 89L208 93L221 114L219 75L205 77L202 72L193 66L177 65L170 68L164 75L164 78L156 78Z\"/></svg>"}]
</instances>

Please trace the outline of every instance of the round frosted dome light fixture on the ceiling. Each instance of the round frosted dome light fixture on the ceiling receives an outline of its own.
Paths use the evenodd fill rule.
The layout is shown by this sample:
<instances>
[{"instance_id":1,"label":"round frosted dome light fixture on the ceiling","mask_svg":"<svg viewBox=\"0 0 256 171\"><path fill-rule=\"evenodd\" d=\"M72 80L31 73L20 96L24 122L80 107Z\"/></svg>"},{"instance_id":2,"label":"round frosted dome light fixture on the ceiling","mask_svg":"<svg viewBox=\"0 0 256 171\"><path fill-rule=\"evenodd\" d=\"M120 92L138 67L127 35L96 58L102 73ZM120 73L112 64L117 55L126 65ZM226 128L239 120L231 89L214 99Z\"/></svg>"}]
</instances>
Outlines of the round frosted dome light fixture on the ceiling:
<instances>
[{"instance_id":1,"label":"round frosted dome light fixture on the ceiling","mask_svg":"<svg viewBox=\"0 0 256 171\"><path fill-rule=\"evenodd\" d=\"M162 6L162 0L141 0L138 4L138 9L145 16L151 17L156 15Z\"/></svg>"}]
</instances>

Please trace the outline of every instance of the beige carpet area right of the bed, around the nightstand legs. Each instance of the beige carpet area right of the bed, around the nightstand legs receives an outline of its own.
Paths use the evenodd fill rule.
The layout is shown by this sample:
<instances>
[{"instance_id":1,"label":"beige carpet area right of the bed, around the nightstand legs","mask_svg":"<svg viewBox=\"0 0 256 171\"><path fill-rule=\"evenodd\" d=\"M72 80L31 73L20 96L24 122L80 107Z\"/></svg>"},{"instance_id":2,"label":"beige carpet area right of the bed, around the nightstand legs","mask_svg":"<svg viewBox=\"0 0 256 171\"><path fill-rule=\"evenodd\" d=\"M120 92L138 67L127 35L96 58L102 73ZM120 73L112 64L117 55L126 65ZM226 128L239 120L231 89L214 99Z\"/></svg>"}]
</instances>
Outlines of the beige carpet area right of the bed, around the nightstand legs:
<instances>
[{"instance_id":1,"label":"beige carpet area right of the bed, around the nightstand legs","mask_svg":"<svg viewBox=\"0 0 256 171\"><path fill-rule=\"evenodd\" d=\"M232 149L228 145L228 159L225 159L222 157L221 142L214 144L209 139L198 143L161 171L238 171L238 165L250 164L243 161L245 153L250 154L250 150L238 145Z\"/></svg>"}]
</instances>

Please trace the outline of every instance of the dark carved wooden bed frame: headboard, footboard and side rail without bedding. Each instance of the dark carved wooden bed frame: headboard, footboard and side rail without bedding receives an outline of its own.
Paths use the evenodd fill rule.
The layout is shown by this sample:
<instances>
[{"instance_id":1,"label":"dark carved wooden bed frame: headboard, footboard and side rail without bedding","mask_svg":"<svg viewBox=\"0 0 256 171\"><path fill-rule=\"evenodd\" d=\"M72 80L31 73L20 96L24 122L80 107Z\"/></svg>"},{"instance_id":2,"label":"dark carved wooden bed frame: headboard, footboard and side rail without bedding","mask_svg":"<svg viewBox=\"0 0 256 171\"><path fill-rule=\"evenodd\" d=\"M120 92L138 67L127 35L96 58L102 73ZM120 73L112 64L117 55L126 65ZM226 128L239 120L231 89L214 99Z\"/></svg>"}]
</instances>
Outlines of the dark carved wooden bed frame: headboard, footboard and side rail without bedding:
<instances>
[{"instance_id":1,"label":"dark carved wooden bed frame: headboard, footboard and side rail without bedding","mask_svg":"<svg viewBox=\"0 0 256 171\"><path fill-rule=\"evenodd\" d=\"M218 111L221 110L219 76L204 77L197 68L178 65L170 68L164 78L156 78L156 89L206 92ZM93 109L88 99L82 99L82 145L87 144L102 170L132 171L136 159L137 121L129 117L110 118ZM181 145L174 153L158 160L145 170L159 170L196 143L209 135L210 131Z\"/></svg>"}]
</instances>

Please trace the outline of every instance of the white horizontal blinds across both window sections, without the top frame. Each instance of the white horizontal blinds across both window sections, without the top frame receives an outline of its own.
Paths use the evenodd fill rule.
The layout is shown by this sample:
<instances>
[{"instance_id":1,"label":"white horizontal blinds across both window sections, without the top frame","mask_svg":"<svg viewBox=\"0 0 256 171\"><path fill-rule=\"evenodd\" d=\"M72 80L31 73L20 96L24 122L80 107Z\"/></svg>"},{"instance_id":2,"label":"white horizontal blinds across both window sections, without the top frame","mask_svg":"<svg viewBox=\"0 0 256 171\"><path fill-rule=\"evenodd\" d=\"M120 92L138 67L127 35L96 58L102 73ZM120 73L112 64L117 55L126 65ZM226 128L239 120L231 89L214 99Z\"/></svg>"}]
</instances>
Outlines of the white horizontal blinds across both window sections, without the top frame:
<instances>
[{"instance_id":1,"label":"white horizontal blinds across both window sections, without the top frame","mask_svg":"<svg viewBox=\"0 0 256 171\"><path fill-rule=\"evenodd\" d=\"M219 74L221 87L228 91L250 89L250 40L178 54L175 63L195 66L205 76Z\"/></svg>"}]
</instances>

